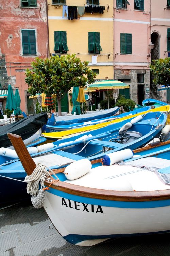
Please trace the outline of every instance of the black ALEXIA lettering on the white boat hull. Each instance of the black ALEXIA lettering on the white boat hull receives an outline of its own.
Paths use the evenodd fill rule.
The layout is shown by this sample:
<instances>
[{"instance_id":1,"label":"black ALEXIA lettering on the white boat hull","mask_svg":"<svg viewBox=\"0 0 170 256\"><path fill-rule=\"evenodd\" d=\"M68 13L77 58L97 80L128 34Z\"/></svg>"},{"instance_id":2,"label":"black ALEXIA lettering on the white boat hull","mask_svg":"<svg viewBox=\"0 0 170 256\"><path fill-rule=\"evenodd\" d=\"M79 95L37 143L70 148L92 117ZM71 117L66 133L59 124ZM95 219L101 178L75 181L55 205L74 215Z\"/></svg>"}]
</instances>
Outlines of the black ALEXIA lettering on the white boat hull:
<instances>
[{"instance_id":1,"label":"black ALEXIA lettering on the white boat hull","mask_svg":"<svg viewBox=\"0 0 170 256\"><path fill-rule=\"evenodd\" d=\"M103 210L102 210L102 207L100 205L94 205L94 204L88 204L88 203L80 203L80 202L76 202L76 201L73 201L71 202L70 199L67 199L65 198L62 198L62 205L65 205L66 207L69 207L69 208L73 208L75 210L81 210L80 209L80 204L82 204L82 206L84 207L83 208L83 212L95 212L95 213L103 213Z\"/></svg>"}]
</instances>

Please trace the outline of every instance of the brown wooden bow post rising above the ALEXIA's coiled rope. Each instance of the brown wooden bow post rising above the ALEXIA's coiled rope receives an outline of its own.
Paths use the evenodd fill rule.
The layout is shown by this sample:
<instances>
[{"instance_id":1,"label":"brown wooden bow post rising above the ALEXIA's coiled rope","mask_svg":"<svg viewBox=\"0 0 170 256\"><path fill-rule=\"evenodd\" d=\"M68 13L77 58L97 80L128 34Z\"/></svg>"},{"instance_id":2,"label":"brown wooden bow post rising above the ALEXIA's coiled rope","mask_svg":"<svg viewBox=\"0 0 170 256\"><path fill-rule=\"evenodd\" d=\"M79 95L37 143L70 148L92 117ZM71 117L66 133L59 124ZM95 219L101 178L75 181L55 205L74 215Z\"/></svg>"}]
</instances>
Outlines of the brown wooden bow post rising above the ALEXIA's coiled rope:
<instances>
[{"instance_id":1,"label":"brown wooden bow post rising above the ALEXIA's coiled rope","mask_svg":"<svg viewBox=\"0 0 170 256\"><path fill-rule=\"evenodd\" d=\"M8 138L10 139L27 175L31 175L36 168L36 164L30 156L21 136L8 133Z\"/></svg>"}]
</instances>

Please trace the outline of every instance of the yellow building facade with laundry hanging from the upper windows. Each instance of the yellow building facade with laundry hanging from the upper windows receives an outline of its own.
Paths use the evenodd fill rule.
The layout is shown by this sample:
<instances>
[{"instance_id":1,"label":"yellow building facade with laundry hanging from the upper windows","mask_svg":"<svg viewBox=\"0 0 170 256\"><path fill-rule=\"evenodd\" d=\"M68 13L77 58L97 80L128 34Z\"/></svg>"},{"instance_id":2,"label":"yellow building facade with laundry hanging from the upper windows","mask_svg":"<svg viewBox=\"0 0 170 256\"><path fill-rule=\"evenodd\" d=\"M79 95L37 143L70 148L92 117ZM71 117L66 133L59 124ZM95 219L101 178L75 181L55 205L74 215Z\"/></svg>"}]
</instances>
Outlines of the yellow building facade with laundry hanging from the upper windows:
<instances>
[{"instance_id":1,"label":"yellow building facade with laundry hanging from the upper windows","mask_svg":"<svg viewBox=\"0 0 170 256\"><path fill-rule=\"evenodd\" d=\"M81 61L89 61L96 80L114 79L113 7L111 0L50 0L49 55L75 53Z\"/></svg>"}]
</instances>

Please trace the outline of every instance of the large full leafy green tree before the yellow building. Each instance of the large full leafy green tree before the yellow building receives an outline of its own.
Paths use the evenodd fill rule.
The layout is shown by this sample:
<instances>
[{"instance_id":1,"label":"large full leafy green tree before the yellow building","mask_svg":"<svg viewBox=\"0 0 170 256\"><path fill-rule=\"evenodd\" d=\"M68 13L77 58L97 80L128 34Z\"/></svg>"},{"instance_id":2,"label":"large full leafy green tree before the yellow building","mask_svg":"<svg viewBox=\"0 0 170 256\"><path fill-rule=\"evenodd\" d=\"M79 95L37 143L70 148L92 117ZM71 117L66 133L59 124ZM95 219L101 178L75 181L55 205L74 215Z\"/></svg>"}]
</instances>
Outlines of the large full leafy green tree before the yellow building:
<instances>
[{"instance_id":1,"label":"large full leafy green tree before the yellow building","mask_svg":"<svg viewBox=\"0 0 170 256\"><path fill-rule=\"evenodd\" d=\"M56 94L58 114L61 115L61 99L72 87L84 87L94 82L96 73L88 67L88 61L81 62L72 55L51 56L50 59L36 58L32 69L26 70L26 83L31 95Z\"/></svg>"}]
</instances>

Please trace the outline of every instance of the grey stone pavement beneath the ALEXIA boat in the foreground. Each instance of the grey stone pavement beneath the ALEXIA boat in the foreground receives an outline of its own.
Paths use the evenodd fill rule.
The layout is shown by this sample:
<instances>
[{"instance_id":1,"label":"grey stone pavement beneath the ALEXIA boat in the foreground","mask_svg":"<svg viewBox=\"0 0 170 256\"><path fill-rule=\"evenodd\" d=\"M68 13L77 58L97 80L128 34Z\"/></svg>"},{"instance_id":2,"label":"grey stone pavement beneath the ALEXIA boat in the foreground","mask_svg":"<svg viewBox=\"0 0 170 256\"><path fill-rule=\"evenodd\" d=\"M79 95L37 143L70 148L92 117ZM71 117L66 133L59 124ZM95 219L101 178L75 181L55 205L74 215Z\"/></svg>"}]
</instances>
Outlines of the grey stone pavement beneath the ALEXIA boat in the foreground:
<instances>
[{"instance_id":1,"label":"grey stone pavement beneath the ALEXIA boat in the foreground","mask_svg":"<svg viewBox=\"0 0 170 256\"><path fill-rule=\"evenodd\" d=\"M170 234L124 237L92 247L66 242L30 202L0 209L0 256L170 256Z\"/></svg>"}]
</instances>

